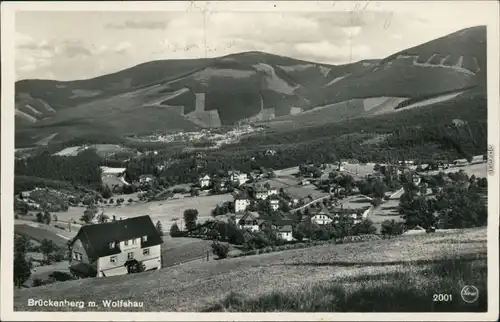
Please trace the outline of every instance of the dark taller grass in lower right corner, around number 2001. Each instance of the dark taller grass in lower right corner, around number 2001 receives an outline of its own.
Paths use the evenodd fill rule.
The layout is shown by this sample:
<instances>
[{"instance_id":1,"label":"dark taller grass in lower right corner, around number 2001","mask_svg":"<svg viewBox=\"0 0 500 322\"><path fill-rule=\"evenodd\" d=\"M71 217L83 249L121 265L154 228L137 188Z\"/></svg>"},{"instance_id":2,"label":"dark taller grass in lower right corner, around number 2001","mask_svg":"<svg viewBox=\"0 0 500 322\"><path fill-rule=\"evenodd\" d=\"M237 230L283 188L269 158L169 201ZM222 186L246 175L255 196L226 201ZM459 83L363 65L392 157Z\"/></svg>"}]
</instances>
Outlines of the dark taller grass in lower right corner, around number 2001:
<instances>
[{"instance_id":1,"label":"dark taller grass in lower right corner, around number 2001","mask_svg":"<svg viewBox=\"0 0 500 322\"><path fill-rule=\"evenodd\" d=\"M465 303L464 285L479 289L479 299ZM434 294L452 300L433 301ZM393 272L352 276L318 283L305 289L273 292L257 298L230 293L205 312L485 312L487 269L485 258L405 264Z\"/></svg>"}]
</instances>

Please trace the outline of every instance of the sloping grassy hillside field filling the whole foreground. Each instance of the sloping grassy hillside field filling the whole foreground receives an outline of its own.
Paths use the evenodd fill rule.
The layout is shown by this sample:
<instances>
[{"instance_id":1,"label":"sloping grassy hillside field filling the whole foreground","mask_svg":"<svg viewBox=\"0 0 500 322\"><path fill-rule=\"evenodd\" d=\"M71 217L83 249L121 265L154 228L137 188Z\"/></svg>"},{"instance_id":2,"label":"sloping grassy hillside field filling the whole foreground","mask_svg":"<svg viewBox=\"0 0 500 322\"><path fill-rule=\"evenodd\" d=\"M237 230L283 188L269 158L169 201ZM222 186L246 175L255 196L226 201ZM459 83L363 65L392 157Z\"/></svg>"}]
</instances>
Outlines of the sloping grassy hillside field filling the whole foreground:
<instances>
[{"instance_id":1,"label":"sloping grassy hillside field filling the whole foreground","mask_svg":"<svg viewBox=\"0 0 500 322\"><path fill-rule=\"evenodd\" d=\"M14 309L34 310L28 307L28 299L43 299L50 294L53 300L93 300L98 303L104 299L143 301L144 307L140 309L143 311L248 310L245 305L261 301L265 296L277 296L275 292L279 292L304 300L302 309L288 308L295 311L309 308L311 311L373 312L374 307L380 307L382 311L384 308L439 311L450 308L448 305L452 306L452 311L484 310L486 244L486 229L482 228L454 234L435 233L357 244L316 246L307 251L297 249L208 263L196 261L137 276L78 280L16 290ZM433 265L438 265L441 270L432 270ZM456 279L444 279L446 276ZM394 284L395 280L400 282ZM461 301L451 304L432 302L433 293L452 293L460 298L463 281L479 288L478 302L467 307ZM342 289L345 297L338 298L335 293L328 292L332 286ZM304 296L317 288L323 289L323 293L312 299L319 295L325 298L316 309L312 309L308 307L311 302L306 302ZM221 302L235 292L244 292L250 299L237 302L238 305L233 308ZM380 294L384 296L380 297ZM391 296L388 298L387 295ZM338 300L344 300L344 306L337 306ZM325 302L329 301L332 304L325 307ZM291 299L286 300L281 305L292 302ZM252 305L252 309L287 309L278 304L271 301L257 307ZM93 310L105 311L106 308L100 305Z\"/></svg>"}]
</instances>

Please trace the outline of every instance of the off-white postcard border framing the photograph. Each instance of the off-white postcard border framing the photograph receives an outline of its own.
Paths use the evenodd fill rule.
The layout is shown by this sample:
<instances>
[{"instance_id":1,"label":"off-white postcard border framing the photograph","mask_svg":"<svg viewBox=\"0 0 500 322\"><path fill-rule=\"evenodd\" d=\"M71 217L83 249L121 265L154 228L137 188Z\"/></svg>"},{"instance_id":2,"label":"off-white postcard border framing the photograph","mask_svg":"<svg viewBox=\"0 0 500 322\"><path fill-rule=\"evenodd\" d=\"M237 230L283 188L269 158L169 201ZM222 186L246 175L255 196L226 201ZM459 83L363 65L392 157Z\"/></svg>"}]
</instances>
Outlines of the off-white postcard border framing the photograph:
<instances>
[{"instance_id":1,"label":"off-white postcard border framing the photograph","mask_svg":"<svg viewBox=\"0 0 500 322\"><path fill-rule=\"evenodd\" d=\"M493 175L488 180L488 313L126 313L126 312L15 312L13 311L13 182L14 182L14 16L26 11L411 11L442 10L443 21L454 19L448 10L459 7L484 16L487 25L488 143L494 149ZM10 321L480 321L498 318L499 267L499 6L496 1L213 1L213 2L2 2L2 162L1 162L1 318ZM474 108L471 106L471 108Z\"/></svg>"}]
</instances>

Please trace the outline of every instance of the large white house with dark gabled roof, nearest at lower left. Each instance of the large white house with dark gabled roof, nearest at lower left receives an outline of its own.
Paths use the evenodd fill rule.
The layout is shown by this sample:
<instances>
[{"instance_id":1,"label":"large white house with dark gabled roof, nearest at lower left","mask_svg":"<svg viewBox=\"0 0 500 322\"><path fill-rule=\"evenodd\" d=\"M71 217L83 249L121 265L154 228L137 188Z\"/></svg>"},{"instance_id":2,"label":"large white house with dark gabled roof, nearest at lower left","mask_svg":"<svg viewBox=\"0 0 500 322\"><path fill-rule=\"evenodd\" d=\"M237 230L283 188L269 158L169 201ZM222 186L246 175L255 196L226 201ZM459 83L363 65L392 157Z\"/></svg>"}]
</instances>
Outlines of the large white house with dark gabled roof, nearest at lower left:
<instances>
[{"instance_id":1,"label":"large white house with dark gabled roof, nearest at lower left","mask_svg":"<svg viewBox=\"0 0 500 322\"><path fill-rule=\"evenodd\" d=\"M80 277L125 275L133 265L157 270L162 243L149 216L82 226L69 245L69 268Z\"/></svg>"}]
</instances>

